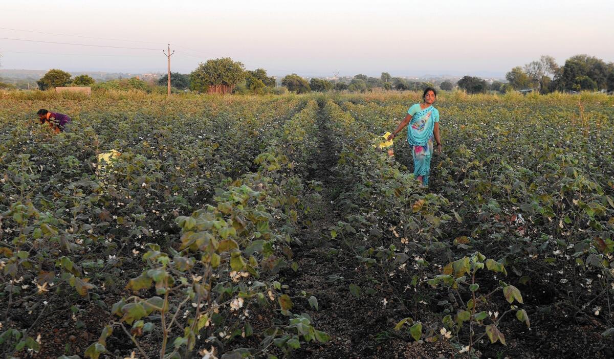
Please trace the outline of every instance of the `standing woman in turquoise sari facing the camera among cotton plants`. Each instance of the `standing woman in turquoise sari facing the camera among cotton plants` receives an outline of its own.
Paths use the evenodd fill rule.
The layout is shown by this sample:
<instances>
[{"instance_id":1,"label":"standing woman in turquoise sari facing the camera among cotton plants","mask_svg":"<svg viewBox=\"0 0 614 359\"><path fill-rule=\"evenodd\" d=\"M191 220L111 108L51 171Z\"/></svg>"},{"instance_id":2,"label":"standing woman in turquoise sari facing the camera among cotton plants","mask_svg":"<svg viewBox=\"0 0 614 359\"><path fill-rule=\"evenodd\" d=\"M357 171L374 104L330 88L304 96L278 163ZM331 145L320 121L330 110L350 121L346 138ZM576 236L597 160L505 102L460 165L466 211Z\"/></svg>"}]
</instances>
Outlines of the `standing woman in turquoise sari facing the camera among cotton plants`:
<instances>
[{"instance_id":1,"label":"standing woman in turquoise sari facing the camera among cotton plants","mask_svg":"<svg viewBox=\"0 0 614 359\"><path fill-rule=\"evenodd\" d=\"M437 154L441 153L439 111L433 107L436 98L437 91L432 87L427 87L422 94L422 103L411 106L403 121L398 124L397 129L388 136L388 141L390 141L405 126L410 125L407 128L407 142L411 145L411 155L414 158L414 176L424 186L429 185L433 140L437 144Z\"/></svg>"}]
</instances>

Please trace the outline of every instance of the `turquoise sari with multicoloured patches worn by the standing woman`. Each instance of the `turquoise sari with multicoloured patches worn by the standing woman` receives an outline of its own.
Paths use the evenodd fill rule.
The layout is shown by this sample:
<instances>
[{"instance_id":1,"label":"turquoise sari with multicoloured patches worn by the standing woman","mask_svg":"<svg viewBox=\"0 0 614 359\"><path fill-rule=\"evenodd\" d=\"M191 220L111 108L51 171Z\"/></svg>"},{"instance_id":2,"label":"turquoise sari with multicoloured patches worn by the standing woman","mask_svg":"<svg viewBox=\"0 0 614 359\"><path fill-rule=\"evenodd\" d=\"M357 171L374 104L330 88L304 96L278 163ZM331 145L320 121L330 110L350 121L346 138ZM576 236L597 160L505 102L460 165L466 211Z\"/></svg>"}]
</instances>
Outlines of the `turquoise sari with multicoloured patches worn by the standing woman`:
<instances>
[{"instance_id":1,"label":"turquoise sari with multicoloured patches worn by the standing woman","mask_svg":"<svg viewBox=\"0 0 614 359\"><path fill-rule=\"evenodd\" d=\"M439 111L433 106L421 109L420 104L415 104L407 113L412 115L407 126L407 142L414 158L414 176L422 176L422 184L427 186L433 156L433 129L435 122L439 122Z\"/></svg>"}]
</instances>

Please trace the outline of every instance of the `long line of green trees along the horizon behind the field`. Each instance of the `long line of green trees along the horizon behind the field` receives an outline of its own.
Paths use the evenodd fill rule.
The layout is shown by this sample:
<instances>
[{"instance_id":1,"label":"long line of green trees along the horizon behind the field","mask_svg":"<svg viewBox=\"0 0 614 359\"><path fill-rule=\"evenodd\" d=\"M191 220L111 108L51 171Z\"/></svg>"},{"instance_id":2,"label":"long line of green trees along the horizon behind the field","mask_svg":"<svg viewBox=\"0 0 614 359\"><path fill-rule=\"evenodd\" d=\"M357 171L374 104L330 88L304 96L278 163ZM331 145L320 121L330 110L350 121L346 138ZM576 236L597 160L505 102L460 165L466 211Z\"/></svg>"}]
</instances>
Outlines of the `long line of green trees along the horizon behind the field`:
<instances>
[{"instance_id":1,"label":"long line of green trees along the horizon behind the field","mask_svg":"<svg viewBox=\"0 0 614 359\"><path fill-rule=\"evenodd\" d=\"M516 66L505 74L507 82L492 83L480 77L466 75L456 84L449 80L439 83L441 90L453 90L458 85L468 93L485 91L500 91L502 93L514 90L535 90L540 93L553 91L614 91L614 63L588 55L575 55L559 66L552 56L543 55L539 60L531 61L524 66ZM157 83L146 83L139 79L110 80L95 85L95 80L88 75L74 78L71 74L59 69L52 69L37 81L41 90L64 86L93 86L101 89L144 90L155 91L155 85L165 87L168 75L163 75ZM352 91L364 92L376 88L383 90L424 90L435 87L431 82L411 81L402 77L392 77L388 72L382 72L379 77L357 74L354 77L344 77L339 80L313 78L307 80L297 74L289 74L281 79L281 88L274 77L268 76L265 69L249 71L243 63L231 58L217 58L200 63L190 74L171 72L171 87L177 90L191 90L204 93L209 87L225 85L233 93L263 95L265 93L308 93L311 91Z\"/></svg>"}]
</instances>

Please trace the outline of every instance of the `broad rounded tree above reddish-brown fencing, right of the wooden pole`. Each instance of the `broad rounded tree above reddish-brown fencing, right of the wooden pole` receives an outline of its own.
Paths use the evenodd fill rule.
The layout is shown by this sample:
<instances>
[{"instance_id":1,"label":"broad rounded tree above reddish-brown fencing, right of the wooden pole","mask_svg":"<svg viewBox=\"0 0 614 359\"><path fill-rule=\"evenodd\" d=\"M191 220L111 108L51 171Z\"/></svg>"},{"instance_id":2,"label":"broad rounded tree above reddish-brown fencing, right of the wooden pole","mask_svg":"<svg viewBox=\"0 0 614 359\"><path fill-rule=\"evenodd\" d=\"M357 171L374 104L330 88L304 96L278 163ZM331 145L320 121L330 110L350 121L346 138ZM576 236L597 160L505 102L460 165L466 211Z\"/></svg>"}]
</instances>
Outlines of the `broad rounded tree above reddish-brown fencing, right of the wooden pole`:
<instances>
[{"instance_id":1,"label":"broad rounded tree above reddish-brown fencing, right of the wooden pole","mask_svg":"<svg viewBox=\"0 0 614 359\"><path fill-rule=\"evenodd\" d=\"M244 78L243 63L235 62L229 57L216 58L204 64L198 64L198 68L190 73L190 89L204 92L213 85L226 85L233 88Z\"/></svg>"}]
</instances>

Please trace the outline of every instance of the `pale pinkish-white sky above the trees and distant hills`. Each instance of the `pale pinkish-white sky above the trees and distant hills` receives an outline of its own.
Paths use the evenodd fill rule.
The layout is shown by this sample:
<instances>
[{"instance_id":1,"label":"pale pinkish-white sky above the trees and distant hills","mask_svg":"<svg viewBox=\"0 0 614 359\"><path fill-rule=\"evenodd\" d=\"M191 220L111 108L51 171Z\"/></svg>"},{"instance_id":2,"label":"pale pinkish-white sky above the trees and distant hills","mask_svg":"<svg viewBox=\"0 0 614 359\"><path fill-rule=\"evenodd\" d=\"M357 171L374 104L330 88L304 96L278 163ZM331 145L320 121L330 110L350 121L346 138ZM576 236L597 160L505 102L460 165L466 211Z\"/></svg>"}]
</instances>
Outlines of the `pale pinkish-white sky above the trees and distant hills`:
<instances>
[{"instance_id":1,"label":"pale pinkish-white sky above the trees and distant hills","mask_svg":"<svg viewBox=\"0 0 614 359\"><path fill-rule=\"evenodd\" d=\"M1 0L0 17L0 69L166 72L167 43L183 73L223 56L306 77L503 75L578 53L614 61L612 0Z\"/></svg>"}]
</instances>

